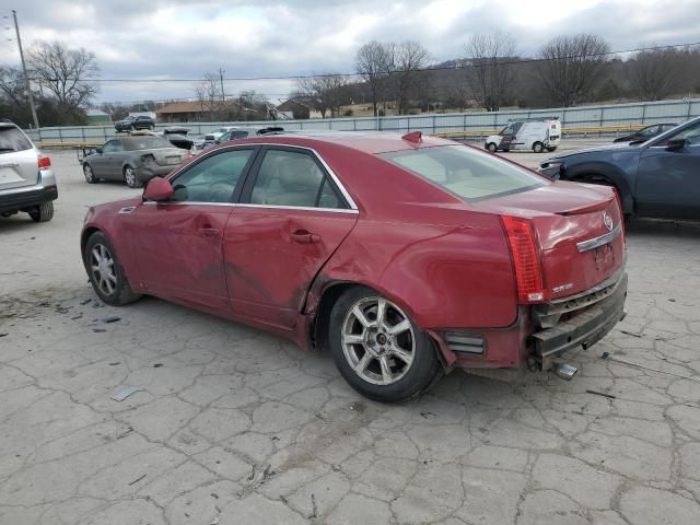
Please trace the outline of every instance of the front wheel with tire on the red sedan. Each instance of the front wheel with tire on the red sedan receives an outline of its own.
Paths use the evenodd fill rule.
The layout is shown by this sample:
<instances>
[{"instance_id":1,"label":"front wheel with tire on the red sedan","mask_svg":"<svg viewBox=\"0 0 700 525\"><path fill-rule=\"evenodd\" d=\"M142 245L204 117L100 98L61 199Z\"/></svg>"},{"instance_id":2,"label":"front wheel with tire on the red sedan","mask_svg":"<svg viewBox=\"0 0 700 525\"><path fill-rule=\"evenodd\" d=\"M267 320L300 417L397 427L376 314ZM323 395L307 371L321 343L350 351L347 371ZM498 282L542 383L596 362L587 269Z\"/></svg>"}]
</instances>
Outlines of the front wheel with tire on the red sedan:
<instances>
[{"instance_id":1,"label":"front wheel with tire on the red sedan","mask_svg":"<svg viewBox=\"0 0 700 525\"><path fill-rule=\"evenodd\" d=\"M83 262L93 290L105 303L122 306L141 296L131 290L117 252L102 232L93 233L85 243Z\"/></svg>"}]
</instances>

